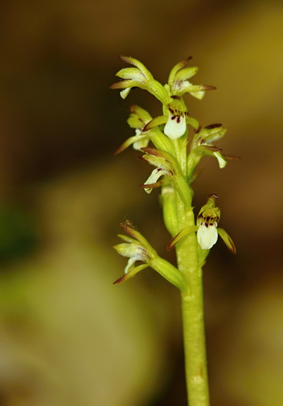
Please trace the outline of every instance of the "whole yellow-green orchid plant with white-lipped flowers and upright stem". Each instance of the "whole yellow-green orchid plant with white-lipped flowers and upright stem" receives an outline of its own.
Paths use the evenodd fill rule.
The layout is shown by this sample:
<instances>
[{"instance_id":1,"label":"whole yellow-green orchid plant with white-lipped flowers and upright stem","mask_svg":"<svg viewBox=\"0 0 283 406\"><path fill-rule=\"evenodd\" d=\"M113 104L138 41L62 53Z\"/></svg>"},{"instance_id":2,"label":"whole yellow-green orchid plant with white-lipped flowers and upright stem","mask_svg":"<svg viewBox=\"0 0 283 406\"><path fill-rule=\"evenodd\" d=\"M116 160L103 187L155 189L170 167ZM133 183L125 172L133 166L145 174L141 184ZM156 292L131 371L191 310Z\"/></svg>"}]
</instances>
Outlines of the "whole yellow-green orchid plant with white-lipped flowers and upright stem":
<instances>
[{"instance_id":1,"label":"whole yellow-green orchid plant with white-lipped flowers and upright stem","mask_svg":"<svg viewBox=\"0 0 283 406\"><path fill-rule=\"evenodd\" d=\"M140 186L147 193L161 187L164 223L171 234L167 249L175 248L178 266L162 259L136 227L125 220L120 225L128 235L119 235L124 242L114 248L129 259L124 275L114 284L124 282L150 266L180 289L188 401L190 406L208 406L202 266L209 250L216 244L218 235L232 253L235 254L236 249L227 232L218 227L220 209L217 207L216 193L208 196L195 220L191 184L197 176L196 167L203 156L215 157L220 168L225 167L228 159L237 158L224 155L214 145L226 132L221 124L202 128L195 118L189 116L183 95L189 93L201 100L206 91L216 89L214 86L193 85L189 82L197 73L197 67L186 67L191 57L173 67L168 83L164 86L137 59L125 56L119 58L132 66L116 74L122 80L111 85L111 89L121 89L123 99L136 87L148 90L161 102L162 115L152 118L141 107L130 106L128 124L135 130L135 134L115 154L132 145L141 152L139 159L155 167ZM191 143L188 150L189 140Z\"/></svg>"}]
</instances>

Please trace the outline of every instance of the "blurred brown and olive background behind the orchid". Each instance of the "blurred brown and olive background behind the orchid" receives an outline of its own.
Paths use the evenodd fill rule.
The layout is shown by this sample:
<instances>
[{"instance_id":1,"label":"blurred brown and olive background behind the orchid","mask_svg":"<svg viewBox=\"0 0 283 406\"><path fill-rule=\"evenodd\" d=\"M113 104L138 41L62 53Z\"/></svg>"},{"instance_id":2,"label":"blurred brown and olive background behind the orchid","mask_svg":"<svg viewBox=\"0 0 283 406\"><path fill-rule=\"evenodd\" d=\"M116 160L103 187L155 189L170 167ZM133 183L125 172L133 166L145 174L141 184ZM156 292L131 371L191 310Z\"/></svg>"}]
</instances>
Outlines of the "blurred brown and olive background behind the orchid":
<instances>
[{"instance_id":1,"label":"blurred brown and olive background behind the orchid","mask_svg":"<svg viewBox=\"0 0 283 406\"><path fill-rule=\"evenodd\" d=\"M188 55L210 84L190 115L227 126L206 158L196 212L217 192L220 241L204 267L211 406L283 404L283 4L3 0L0 4L0 405L186 405L178 292L152 270L113 286L125 215L166 253L151 168L130 148L109 85L140 59L161 83Z\"/></svg>"}]
</instances>

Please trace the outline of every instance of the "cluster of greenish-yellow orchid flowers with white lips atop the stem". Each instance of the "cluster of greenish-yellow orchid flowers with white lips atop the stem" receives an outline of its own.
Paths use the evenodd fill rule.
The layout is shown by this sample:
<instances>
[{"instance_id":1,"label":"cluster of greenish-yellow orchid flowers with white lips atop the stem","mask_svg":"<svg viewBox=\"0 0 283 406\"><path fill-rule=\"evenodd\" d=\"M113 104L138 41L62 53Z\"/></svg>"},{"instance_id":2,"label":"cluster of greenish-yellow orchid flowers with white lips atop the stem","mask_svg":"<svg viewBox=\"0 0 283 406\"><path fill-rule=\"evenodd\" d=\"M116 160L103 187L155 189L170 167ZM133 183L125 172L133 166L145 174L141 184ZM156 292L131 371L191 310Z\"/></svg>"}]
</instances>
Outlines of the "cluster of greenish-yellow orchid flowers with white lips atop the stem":
<instances>
[{"instance_id":1,"label":"cluster of greenish-yellow orchid flowers with white lips atop the stem","mask_svg":"<svg viewBox=\"0 0 283 406\"><path fill-rule=\"evenodd\" d=\"M140 186L147 193L151 193L154 188L162 188L165 225L171 235L174 235L168 244L168 249L176 246L188 234L196 233L200 250L208 252L220 235L229 250L235 253L235 246L230 236L218 227L220 209L216 207L217 195L215 193L208 196L206 205L201 208L197 216L196 223L192 223L192 221L189 224L184 223L186 213L192 213L191 182L196 177L196 166L201 158L203 156L216 158L220 168L225 167L228 159L238 159L223 155L222 150L214 145L226 133L223 125L211 124L202 128L195 118L190 117L183 98L186 93L189 93L201 100L207 90L216 88L209 85L193 85L189 81L198 70L195 66L186 67L191 57L182 60L173 67L169 74L168 83L164 86L155 80L145 65L137 59L126 56L119 58L132 66L121 69L116 75L121 81L110 87L120 89L123 99L128 96L132 89L139 87L149 91L162 104L163 114L155 118L152 118L146 110L139 106L130 106L130 116L127 122L135 130L135 134L128 138L115 151L115 154L132 145L135 150L144 153L138 156L139 159L155 166L149 178ZM190 127L194 134L189 153L187 153ZM149 146L150 143L153 144L154 148ZM183 213L183 215L180 215L180 205L184 209L185 214ZM161 260L129 222L124 222L121 226L130 235L130 238L120 235L125 242L115 248L121 255L129 257L129 260L125 268L125 275L117 282L128 279L147 266L158 268L156 265L157 258ZM200 254L200 257L203 259L205 255L205 253ZM135 266L136 261L144 263ZM165 262L162 266L166 268ZM162 274L160 269L158 272ZM174 274L175 271L172 272ZM168 275L165 278L168 279ZM174 284L180 286L179 282Z\"/></svg>"}]
</instances>

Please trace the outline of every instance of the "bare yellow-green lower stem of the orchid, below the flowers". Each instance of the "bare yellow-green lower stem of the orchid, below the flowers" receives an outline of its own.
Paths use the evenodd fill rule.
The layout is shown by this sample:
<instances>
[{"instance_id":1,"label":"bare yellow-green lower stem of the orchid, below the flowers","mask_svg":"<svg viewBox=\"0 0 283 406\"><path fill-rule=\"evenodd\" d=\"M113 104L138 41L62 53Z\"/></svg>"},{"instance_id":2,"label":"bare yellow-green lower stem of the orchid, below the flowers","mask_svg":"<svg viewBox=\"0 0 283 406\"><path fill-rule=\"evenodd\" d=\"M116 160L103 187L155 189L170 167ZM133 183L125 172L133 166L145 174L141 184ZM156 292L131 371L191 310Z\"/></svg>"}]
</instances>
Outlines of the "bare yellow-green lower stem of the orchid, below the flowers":
<instances>
[{"instance_id":1,"label":"bare yellow-green lower stem of the orchid, below the flowers","mask_svg":"<svg viewBox=\"0 0 283 406\"><path fill-rule=\"evenodd\" d=\"M180 229L194 225L192 209L186 209L175 193ZM189 406L209 406L205 334L203 322L202 271L198 263L195 233L176 245L178 268L186 279L182 295L185 368Z\"/></svg>"}]
</instances>

